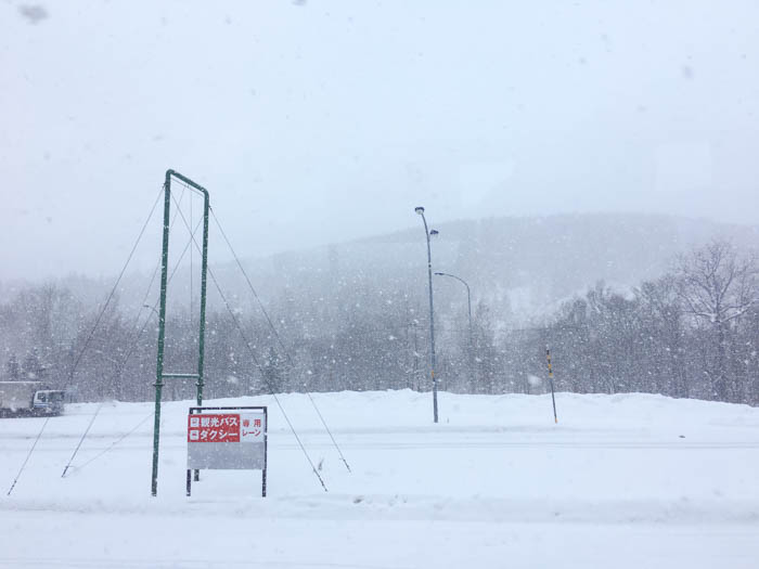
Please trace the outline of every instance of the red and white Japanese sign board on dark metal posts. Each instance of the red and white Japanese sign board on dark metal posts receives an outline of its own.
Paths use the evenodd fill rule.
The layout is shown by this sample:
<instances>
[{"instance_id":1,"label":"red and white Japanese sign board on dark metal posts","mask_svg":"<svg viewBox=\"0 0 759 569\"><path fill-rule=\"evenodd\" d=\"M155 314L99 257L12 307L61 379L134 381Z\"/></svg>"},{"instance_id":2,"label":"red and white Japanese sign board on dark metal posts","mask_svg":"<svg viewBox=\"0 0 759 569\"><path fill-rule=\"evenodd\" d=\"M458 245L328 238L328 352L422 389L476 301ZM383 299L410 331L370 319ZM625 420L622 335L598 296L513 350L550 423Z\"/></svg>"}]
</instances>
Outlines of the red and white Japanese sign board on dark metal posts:
<instances>
[{"instance_id":1,"label":"red and white Japanese sign board on dark metal posts","mask_svg":"<svg viewBox=\"0 0 759 569\"><path fill-rule=\"evenodd\" d=\"M186 495L193 470L261 470L266 497L268 425L265 406L190 408Z\"/></svg>"}]
</instances>

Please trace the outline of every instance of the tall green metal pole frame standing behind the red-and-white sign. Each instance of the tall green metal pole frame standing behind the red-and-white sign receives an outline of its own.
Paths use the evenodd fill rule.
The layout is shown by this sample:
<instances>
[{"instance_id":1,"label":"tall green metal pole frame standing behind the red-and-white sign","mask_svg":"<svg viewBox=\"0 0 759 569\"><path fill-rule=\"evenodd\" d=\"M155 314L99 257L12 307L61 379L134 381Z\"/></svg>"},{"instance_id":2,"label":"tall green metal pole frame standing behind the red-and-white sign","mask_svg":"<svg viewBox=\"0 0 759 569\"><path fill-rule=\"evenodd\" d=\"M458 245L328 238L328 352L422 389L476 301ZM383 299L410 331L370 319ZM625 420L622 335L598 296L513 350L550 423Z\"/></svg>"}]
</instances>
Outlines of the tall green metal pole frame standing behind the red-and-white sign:
<instances>
[{"instance_id":1,"label":"tall green metal pole frame standing behind the red-and-white sign","mask_svg":"<svg viewBox=\"0 0 759 569\"><path fill-rule=\"evenodd\" d=\"M198 334L197 373L164 373L164 346L166 339L166 285L168 279L169 261L169 209L171 206L171 179L182 181L186 185L203 193L203 264L201 268L201 325ZM155 371L155 418L153 423L153 476L151 493L158 493L158 449L160 440L160 393L164 379L168 378L195 378L197 379L197 405L203 404L203 363L205 358L206 335L206 273L208 271L208 211L210 208L208 191L193 182L190 178L173 170L166 170L164 182L164 244L160 255L160 309L158 312L158 357ZM197 480L197 471L195 471Z\"/></svg>"}]
</instances>

